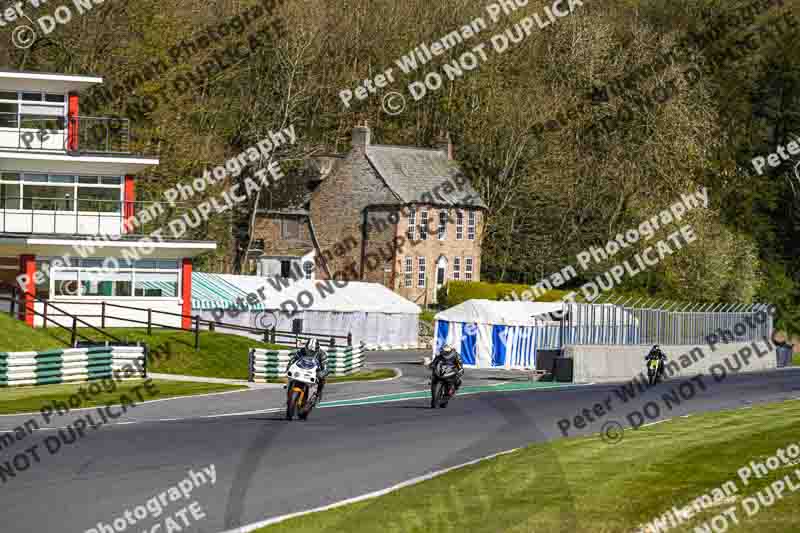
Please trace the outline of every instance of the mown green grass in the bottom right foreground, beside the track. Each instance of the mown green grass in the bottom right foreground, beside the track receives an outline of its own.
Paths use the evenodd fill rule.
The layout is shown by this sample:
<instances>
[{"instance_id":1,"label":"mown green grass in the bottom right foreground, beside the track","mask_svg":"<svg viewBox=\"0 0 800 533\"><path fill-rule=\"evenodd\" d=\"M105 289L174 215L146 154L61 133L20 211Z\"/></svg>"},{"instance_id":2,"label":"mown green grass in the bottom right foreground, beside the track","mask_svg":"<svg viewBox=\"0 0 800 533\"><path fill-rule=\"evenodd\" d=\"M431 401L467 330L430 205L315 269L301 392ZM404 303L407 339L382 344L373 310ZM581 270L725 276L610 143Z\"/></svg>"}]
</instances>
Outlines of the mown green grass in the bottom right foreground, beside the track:
<instances>
[{"instance_id":1,"label":"mown green grass in the bottom right foreground, beside the track","mask_svg":"<svg viewBox=\"0 0 800 533\"><path fill-rule=\"evenodd\" d=\"M259 531L631 532L673 505L685 507L729 480L738 489L735 500L701 511L669 531L694 531L729 507L740 521L738 526L731 522L730 531L798 531L800 490L786 489L783 499L751 517L741 502L775 480L794 476L800 463L749 485L737 476L750 461L764 461L778 448L798 441L797 401L678 418L629 430L618 444L595 435L530 446L373 500ZM454 452L461 445L454 443ZM794 481L800 487L800 472L797 476Z\"/></svg>"}]
</instances>

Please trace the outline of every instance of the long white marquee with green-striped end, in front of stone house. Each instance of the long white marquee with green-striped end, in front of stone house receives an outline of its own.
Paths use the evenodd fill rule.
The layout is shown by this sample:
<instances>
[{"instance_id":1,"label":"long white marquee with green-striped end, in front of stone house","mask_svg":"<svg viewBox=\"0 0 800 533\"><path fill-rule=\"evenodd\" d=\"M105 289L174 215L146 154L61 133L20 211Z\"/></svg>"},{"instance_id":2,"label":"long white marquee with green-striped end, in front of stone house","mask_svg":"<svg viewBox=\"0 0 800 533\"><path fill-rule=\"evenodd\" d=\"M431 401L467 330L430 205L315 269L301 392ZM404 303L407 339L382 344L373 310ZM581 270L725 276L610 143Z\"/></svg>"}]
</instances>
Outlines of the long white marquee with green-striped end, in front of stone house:
<instances>
[{"instance_id":1,"label":"long white marquee with green-striped end, in front of stone house","mask_svg":"<svg viewBox=\"0 0 800 533\"><path fill-rule=\"evenodd\" d=\"M192 313L206 320L258 329L274 326L281 331L292 331L294 321L301 320L303 332L343 336L352 333L354 344L364 342L369 348L417 347L420 307L383 285L337 282L337 286L330 281L291 279L283 282L256 276L194 273ZM220 309L230 311L220 317Z\"/></svg>"}]
</instances>

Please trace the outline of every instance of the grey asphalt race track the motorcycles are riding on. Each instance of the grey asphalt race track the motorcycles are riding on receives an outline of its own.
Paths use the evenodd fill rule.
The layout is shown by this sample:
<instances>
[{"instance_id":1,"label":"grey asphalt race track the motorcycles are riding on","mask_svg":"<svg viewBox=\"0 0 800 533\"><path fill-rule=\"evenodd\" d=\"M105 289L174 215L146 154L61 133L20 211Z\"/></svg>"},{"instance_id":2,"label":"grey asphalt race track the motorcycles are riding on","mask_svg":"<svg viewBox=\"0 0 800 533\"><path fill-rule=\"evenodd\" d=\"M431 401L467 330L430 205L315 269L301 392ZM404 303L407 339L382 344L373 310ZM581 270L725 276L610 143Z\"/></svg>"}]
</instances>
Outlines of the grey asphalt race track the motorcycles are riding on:
<instances>
[{"instance_id":1,"label":"grey asphalt race track the motorcycles are riding on","mask_svg":"<svg viewBox=\"0 0 800 533\"><path fill-rule=\"evenodd\" d=\"M330 385L325 400L424 390L424 368L402 362L419 357L375 354L373 360L391 362L388 366L402 369L404 376L383 383ZM465 385L502 388L508 380L507 374L494 376L476 373ZM708 381L706 390L698 390L666 417L800 398L800 369ZM279 386L153 402L137 406L115 425L89 430L55 454L47 452L43 440L57 429L33 432L0 451L4 463L38 444L41 459L0 485L0 527L6 533L89 531L175 486L190 469L197 472L213 464L214 485L195 488L188 499L169 503L160 517L148 516L125 531L151 531L153 524L197 501L205 517L190 516L188 526L178 522L180 531L218 533L558 438L558 420L573 418L609 397L612 411L570 436L599 433L611 421L627 427L631 410L674 385L660 385L643 399L624 404L613 393L616 386L582 385L463 395L435 411L428 409L426 398L328 407L315 410L307 422L293 423L282 418ZM71 413L56 426L64 427L79 415ZM0 430L28 418L1 416Z\"/></svg>"}]
</instances>

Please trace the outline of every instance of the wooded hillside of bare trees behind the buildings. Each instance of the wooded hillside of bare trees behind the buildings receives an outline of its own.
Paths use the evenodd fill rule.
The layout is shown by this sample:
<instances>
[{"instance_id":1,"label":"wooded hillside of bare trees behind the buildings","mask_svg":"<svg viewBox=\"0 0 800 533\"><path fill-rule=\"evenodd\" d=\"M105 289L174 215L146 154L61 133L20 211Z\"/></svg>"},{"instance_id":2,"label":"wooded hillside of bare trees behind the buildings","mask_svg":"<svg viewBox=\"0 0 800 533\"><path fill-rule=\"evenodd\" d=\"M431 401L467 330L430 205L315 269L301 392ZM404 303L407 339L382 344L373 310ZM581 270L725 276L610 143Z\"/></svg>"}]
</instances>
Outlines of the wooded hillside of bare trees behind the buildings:
<instances>
[{"instance_id":1,"label":"wooded hillside of bare trees behind the buildings","mask_svg":"<svg viewBox=\"0 0 800 533\"><path fill-rule=\"evenodd\" d=\"M798 0L571 2L574 12L532 25L551 5L106 2L26 49L10 44L13 25L0 28L0 67L102 76L110 97L91 93L81 114L132 118L135 148L161 157L137 199L289 126L297 143L271 153L287 176L309 155L347 150L364 120L381 144L431 146L447 130L489 206L483 280L533 283L631 229L649 235L581 270L570 280L577 287L690 225L691 245L624 288L768 301L782 311L779 326L798 324L794 165L753 163L800 132ZM26 4L33 19L53 9ZM229 53L236 47L238 56ZM431 49L441 54L427 57ZM387 72L393 81L378 87ZM387 103L392 93L402 101ZM193 229L187 237L221 245L207 265L229 257L241 267L253 205L277 205L292 183ZM642 226L702 187L708 209L659 230Z\"/></svg>"}]
</instances>

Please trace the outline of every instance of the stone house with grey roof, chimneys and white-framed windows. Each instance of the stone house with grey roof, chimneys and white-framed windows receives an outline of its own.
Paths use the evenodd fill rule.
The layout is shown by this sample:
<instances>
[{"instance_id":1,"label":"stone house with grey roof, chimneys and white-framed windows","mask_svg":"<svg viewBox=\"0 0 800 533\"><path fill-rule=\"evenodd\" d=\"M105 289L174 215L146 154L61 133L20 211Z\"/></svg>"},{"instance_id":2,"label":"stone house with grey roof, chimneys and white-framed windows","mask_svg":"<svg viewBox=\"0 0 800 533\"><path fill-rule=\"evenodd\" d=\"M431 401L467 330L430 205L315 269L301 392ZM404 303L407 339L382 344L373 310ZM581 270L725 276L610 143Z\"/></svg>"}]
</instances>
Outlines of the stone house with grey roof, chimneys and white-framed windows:
<instances>
[{"instance_id":1,"label":"stone house with grey roof, chimneys and white-framed windows","mask_svg":"<svg viewBox=\"0 0 800 533\"><path fill-rule=\"evenodd\" d=\"M447 280L480 281L486 204L435 148L371 143L353 129L346 154L311 162L300 205L259 209L261 275L381 283L421 305Z\"/></svg>"}]
</instances>

